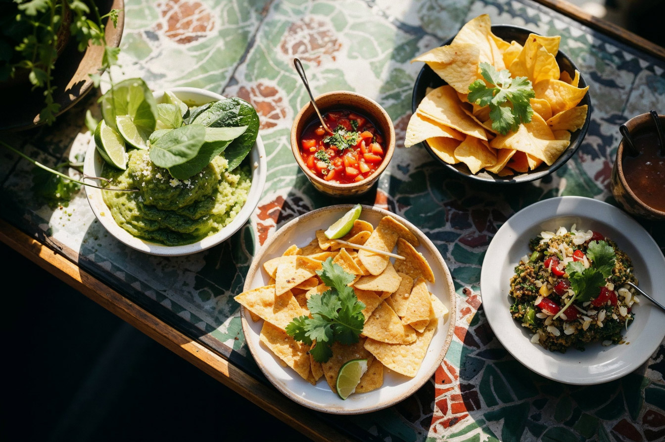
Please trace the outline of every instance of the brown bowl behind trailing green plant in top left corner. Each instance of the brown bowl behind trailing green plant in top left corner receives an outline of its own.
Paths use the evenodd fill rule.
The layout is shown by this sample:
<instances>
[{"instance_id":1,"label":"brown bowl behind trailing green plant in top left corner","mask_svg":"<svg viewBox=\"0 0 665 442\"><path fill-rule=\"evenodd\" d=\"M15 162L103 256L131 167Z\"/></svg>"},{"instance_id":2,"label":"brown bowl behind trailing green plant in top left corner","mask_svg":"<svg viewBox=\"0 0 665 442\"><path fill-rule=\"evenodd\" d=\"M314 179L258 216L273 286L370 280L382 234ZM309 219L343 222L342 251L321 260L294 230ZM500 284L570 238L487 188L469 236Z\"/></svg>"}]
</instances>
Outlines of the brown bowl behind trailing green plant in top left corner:
<instances>
[{"instance_id":1,"label":"brown bowl behind trailing green plant in top left corner","mask_svg":"<svg viewBox=\"0 0 665 442\"><path fill-rule=\"evenodd\" d=\"M108 13L111 9L119 9L118 25L113 26L110 19L106 19L106 44L110 47L118 47L124 27L124 0L98 1L97 7L101 15ZM53 100L60 104L60 110L56 116L63 114L74 106L78 100L88 93L93 82L90 74L100 73L104 47L88 45L85 52L80 53L76 46L76 40L70 38L62 53L58 56L53 70L53 84L56 90ZM0 119L0 131L3 130L26 130L44 124L39 118L39 112L44 108L44 94L42 88L31 90L32 84L19 79L0 83L5 103L11 103L11 112L7 112L5 118Z\"/></svg>"}]
</instances>

